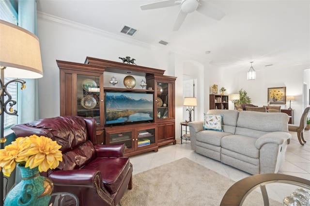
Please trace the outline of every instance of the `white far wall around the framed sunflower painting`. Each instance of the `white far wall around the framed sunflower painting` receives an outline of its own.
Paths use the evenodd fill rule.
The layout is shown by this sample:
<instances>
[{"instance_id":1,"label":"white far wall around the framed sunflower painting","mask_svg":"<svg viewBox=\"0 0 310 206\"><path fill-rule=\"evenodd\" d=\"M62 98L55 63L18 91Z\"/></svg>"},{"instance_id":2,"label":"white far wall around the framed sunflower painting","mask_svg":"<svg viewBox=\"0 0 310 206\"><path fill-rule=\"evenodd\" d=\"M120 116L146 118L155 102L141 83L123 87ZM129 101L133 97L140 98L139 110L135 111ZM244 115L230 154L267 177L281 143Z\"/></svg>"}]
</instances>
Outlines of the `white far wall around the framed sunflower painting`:
<instances>
[{"instance_id":1,"label":"white far wall around the framed sunflower painting","mask_svg":"<svg viewBox=\"0 0 310 206\"><path fill-rule=\"evenodd\" d=\"M254 66L253 66L254 67ZM255 69L255 67L254 67ZM299 124L300 117L304 111L303 108L303 83L304 83L304 69L303 65L296 65L294 67L278 68L278 69L256 69L256 79L247 80L247 72L234 72L227 70L218 72L220 85L227 88L227 94L238 93L240 89L247 91L251 98L252 104L257 106L267 105L267 90L272 87L286 87L286 95L295 96L295 101L292 101L291 108L294 110L294 124ZM305 73L306 74L306 73ZM309 75L310 73L308 73ZM212 84L210 84L211 86ZM286 105L289 108L290 102ZM275 104L284 109L284 104ZM233 103L230 102L230 109L233 109Z\"/></svg>"}]
</instances>

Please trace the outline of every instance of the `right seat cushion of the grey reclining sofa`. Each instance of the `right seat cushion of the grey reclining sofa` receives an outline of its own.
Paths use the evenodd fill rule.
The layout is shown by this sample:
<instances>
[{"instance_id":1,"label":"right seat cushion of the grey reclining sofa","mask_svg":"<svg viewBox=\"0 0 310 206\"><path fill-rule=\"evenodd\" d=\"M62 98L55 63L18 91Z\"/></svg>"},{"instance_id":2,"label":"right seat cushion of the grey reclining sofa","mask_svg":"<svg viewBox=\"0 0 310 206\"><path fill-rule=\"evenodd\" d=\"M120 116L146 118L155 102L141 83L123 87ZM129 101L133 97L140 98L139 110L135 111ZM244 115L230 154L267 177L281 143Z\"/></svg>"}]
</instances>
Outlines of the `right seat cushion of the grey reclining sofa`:
<instances>
[{"instance_id":1,"label":"right seat cushion of the grey reclining sofa","mask_svg":"<svg viewBox=\"0 0 310 206\"><path fill-rule=\"evenodd\" d=\"M255 147L256 140L243 135L229 135L221 138L221 147L251 158L259 158L260 150Z\"/></svg>"}]
</instances>

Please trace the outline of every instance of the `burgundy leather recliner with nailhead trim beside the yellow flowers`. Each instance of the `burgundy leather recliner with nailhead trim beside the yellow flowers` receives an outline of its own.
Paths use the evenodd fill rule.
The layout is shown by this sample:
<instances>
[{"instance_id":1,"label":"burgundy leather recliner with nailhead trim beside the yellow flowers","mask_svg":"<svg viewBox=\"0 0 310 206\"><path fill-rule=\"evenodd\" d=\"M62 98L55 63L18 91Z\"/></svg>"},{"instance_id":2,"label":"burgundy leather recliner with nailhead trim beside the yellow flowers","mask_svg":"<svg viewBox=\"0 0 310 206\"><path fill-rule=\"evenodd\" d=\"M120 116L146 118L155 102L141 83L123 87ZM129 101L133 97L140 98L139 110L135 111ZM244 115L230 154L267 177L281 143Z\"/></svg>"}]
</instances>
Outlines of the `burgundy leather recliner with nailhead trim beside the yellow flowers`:
<instances>
[{"instance_id":1,"label":"burgundy leather recliner with nailhead trim beside the yellow flowers","mask_svg":"<svg viewBox=\"0 0 310 206\"><path fill-rule=\"evenodd\" d=\"M124 144L96 141L93 118L60 116L12 127L16 137L46 136L62 145L62 162L42 175L54 183L53 192L69 192L80 206L116 206L132 188L132 165Z\"/></svg>"}]
</instances>

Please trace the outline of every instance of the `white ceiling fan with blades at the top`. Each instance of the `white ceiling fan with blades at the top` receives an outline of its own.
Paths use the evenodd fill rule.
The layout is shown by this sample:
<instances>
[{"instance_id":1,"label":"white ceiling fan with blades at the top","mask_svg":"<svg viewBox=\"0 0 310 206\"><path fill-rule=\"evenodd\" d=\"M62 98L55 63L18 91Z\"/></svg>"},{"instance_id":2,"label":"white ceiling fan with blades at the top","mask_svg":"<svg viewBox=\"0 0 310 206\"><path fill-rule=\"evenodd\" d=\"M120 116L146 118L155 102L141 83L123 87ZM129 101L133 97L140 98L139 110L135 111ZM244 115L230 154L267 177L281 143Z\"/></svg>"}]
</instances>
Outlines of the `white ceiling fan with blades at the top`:
<instances>
[{"instance_id":1,"label":"white ceiling fan with blades at the top","mask_svg":"<svg viewBox=\"0 0 310 206\"><path fill-rule=\"evenodd\" d=\"M141 5L141 10L158 9L169 6L175 6L181 4L181 9L178 16L175 19L172 31L178 31L187 14L194 11L198 11L205 16L211 17L216 20L221 20L225 14L217 7L204 0L163 0L154 3L148 3Z\"/></svg>"}]
</instances>

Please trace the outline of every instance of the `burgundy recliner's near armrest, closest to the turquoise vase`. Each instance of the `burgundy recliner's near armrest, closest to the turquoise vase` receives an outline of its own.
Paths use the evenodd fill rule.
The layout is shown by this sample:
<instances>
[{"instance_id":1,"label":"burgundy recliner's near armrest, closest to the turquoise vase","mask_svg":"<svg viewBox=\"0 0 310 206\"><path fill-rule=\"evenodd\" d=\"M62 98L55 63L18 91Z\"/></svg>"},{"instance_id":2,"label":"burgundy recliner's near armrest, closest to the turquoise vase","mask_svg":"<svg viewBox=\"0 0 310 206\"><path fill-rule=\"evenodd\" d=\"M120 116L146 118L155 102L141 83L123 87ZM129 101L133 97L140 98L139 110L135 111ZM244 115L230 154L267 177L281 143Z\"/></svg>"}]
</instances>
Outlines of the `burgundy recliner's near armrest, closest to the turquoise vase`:
<instances>
[{"instance_id":1,"label":"burgundy recliner's near armrest, closest to the turquoise vase","mask_svg":"<svg viewBox=\"0 0 310 206\"><path fill-rule=\"evenodd\" d=\"M55 170L48 177L59 186L93 188L96 175L101 178L101 173L97 170Z\"/></svg>"}]
</instances>

